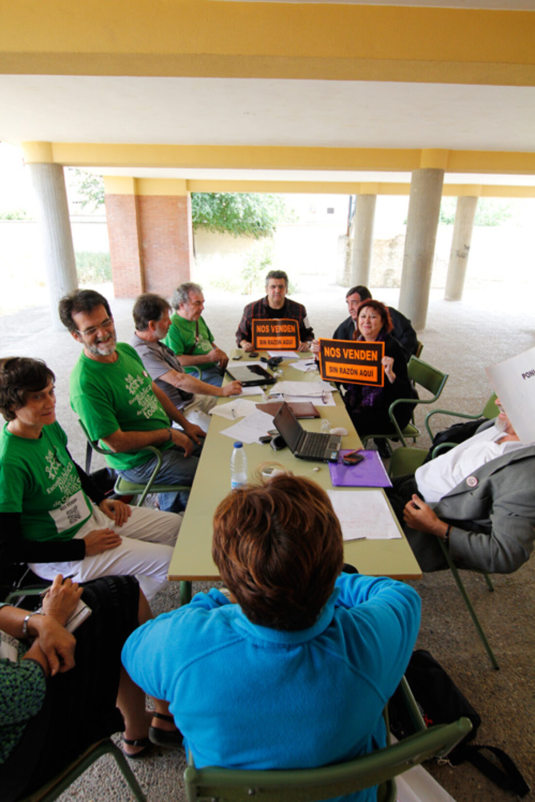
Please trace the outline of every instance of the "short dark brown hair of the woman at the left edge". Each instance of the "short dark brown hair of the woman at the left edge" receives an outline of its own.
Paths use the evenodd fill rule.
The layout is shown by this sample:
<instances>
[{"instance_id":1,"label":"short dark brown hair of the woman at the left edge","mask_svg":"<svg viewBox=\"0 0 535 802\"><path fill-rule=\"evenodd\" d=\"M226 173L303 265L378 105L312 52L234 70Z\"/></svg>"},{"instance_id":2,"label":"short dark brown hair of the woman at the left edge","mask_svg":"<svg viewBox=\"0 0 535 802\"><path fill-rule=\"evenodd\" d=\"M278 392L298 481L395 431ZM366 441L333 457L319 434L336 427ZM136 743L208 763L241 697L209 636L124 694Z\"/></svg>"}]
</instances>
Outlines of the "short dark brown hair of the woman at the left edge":
<instances>
[{"instance_id":1,"label":"short dark brown hair of the woman at the left edge","mask_svg":"<svg viewBox=\"0 0 535 802\"><path fill-rule=\"evenodd\" d=\"M42 359L8 356L0 359L0 412L14 420L15 411L26 407L28 393L44 390L55 375Z\"/></svg>"}]
</instances>

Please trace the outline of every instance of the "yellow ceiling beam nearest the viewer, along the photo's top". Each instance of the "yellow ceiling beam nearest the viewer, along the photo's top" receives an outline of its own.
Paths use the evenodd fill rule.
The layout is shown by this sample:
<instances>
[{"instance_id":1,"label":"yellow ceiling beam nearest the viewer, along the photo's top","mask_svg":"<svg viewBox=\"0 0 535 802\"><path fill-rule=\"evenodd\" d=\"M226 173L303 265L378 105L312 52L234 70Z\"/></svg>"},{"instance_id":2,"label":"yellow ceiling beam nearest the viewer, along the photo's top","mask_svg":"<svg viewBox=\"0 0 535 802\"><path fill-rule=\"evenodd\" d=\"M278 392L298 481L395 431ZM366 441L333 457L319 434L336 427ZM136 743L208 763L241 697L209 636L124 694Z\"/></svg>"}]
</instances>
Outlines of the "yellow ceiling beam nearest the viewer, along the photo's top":
<instances>
[{"instance_id":1,"label":"yellow ceiling beam nearest the viewer, along the photo's top","mask_svg":"<svg viewBox=\"0 0 535 802\"><path fill-rule=\"evenodd\" d=\"M221 0L2 3L0 72L535 85L532 11Z\"/></svg>"}]
</instances>

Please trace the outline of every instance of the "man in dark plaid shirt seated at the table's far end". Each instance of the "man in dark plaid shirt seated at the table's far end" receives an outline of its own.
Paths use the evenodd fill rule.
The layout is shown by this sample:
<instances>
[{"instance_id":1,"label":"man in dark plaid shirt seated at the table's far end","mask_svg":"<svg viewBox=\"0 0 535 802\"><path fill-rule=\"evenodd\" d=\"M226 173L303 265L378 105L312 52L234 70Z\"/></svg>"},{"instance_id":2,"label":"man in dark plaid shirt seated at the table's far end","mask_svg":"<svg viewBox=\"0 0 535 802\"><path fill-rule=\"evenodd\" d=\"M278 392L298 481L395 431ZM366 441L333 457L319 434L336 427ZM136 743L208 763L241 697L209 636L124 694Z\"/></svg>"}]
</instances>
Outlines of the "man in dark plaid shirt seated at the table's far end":
<instances>
[{"instance_id":1,"label":"man in dark plaid shirt seated at the table's far end","mask_svg":"<svg viewBox=\"0 0 535 802\"><path fill-rule=\"evenodd\" d=\"M252 320L262 318L290 318L299 325L298 350L310 350L310 342L314 339L314 331L306 316L305 307L296 301L286 298L288 292L288 276L284 270L270 270L265 277L265 298L247 304L243 310L240 326L236 332L236 342L245 351L253 350Z\"/></svg>"}]
</instances>

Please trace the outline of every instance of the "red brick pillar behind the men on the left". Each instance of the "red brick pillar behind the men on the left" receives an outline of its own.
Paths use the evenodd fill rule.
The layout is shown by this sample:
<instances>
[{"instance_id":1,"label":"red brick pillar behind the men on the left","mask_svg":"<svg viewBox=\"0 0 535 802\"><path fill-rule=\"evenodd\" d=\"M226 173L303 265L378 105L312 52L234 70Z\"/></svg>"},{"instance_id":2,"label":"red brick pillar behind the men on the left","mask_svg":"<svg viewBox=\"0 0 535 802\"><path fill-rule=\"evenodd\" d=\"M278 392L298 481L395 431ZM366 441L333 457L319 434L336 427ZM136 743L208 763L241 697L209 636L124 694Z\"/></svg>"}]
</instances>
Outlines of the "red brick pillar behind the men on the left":
<instances>
[{"instance_id":1,"label":"red brick pillar behind the men on the left","mask_svg":"<svg viewBox=\"0 0 535 802\"><path fill-rule=\"evenodd\" d=\"M168 297L189 280L189 196L106 195L106 216L116 298L143 292Z\"/></svg>"}]
</instances>

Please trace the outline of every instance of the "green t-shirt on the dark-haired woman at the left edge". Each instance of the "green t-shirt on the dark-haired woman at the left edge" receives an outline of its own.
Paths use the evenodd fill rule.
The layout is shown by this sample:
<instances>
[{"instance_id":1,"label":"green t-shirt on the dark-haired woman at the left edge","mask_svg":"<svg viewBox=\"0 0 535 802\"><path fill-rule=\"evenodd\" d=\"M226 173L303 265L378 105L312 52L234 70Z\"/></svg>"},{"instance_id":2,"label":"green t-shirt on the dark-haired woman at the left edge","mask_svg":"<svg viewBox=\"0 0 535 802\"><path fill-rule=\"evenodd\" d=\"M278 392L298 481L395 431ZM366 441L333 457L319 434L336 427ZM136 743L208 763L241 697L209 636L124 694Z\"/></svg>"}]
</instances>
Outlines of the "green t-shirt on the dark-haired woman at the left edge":
<instances>
[{"instance_id":1,"label":"green t-shirt on the dark-haired woman at the left edge","mask_svg":"<svg viewBox=\"0 0 535 802\"><path fill-rule=\"evenodd\" d=\"M0 433L0 512L20 512L30 541L69 541L91 516L59 423L43 426L39 439Z\"/></svg>"}]
</instances>

